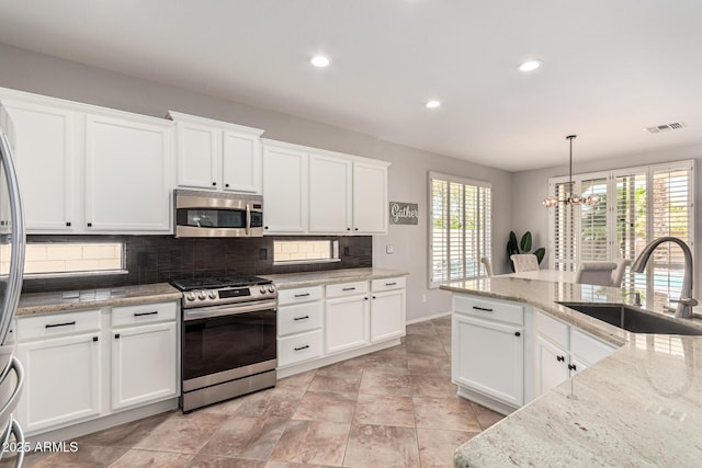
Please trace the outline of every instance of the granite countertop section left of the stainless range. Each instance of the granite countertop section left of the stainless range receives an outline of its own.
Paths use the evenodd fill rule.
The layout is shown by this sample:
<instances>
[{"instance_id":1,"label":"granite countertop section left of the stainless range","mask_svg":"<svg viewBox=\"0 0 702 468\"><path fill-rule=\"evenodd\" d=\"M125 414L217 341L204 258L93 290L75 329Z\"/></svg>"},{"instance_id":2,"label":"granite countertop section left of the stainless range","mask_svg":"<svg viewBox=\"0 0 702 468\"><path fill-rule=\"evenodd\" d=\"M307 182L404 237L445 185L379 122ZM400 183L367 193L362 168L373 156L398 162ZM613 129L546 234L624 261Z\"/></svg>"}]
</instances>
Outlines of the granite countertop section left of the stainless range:
<instances>
[{"instance_id":1,"label":"granite countertop section left of the stainless range","mask_svg":"<svg viewBox=\"0 0 702 468\"><path fill-rule=\"evenodd\" d=\"M180 300L181 292L168 283L121 286L104 289L31 293L20 297L18 316L31 313L65 312L98 307L128 306L133 304Z\"/></svg>"}]
</instances>

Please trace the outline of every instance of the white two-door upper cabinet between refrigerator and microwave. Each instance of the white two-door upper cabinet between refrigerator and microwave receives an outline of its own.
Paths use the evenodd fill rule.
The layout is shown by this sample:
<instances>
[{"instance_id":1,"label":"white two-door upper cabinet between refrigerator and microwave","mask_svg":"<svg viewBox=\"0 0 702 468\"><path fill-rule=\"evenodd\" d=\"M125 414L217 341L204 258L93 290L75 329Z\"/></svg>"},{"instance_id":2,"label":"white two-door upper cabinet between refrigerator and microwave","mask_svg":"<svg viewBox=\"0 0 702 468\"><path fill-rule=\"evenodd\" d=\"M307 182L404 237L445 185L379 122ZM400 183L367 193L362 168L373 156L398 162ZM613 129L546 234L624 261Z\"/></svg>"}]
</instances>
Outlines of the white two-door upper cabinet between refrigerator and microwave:
<instances>
[{"instance_id":1,"label":"white two-door upper cabinet between refrigerator and microwave","mask_svg":"<svg viewBox=\"0 0 702 468\"><path fill-rule=\"evenodd\" d=\"M172 231L172 122L0 89L27 233Z\"/></svg>"}]
</instances>

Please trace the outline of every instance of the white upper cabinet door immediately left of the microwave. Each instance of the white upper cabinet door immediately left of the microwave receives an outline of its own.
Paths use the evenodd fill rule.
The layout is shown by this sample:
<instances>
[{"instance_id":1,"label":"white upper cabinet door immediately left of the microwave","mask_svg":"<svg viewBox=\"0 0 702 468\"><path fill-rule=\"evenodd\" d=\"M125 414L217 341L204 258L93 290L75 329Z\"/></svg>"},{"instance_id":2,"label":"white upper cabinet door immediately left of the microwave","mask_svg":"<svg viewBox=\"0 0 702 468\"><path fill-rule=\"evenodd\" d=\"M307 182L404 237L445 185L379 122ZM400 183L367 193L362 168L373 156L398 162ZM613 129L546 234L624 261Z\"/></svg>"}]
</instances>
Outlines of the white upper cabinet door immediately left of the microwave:
<instances>
[{"instance_id":1,"label":"white upper cabinet door immediately left of the microwave","mask_svg":"<svg viewBox=\"0 0 702 468\"><path fill-rule=\"evenodd\" d=\"M171 127L89 115L86 127L88 231L168 232Z\"/></svg>"}]
</instances>

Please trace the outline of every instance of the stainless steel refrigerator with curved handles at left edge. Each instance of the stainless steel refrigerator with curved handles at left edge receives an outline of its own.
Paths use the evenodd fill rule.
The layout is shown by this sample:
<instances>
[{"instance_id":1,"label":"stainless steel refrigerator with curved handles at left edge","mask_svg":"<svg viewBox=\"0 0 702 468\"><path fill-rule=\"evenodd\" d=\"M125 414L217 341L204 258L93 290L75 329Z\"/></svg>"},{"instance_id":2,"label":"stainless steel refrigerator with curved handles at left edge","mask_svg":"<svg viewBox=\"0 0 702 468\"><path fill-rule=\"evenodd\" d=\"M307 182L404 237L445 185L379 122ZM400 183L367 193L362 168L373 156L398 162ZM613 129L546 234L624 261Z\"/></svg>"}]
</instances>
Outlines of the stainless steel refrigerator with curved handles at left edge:
<instances>
[{"instance_id":1,"label":"stainless steel refrigerator with curved handles at left edge","mask_svg":"<svg viewBox=\"0 0 702 468\"><path fill-rule=\"evenodd\" d=\"M13 418L20 400L24 374L7 343L22 290L24 273L24 214L14 160L14 128L0 103L0 458L16 452L15 466L24 459L24 435ZM4 448L11 448L4 450ZM14 449L12 449L14 447ZM19 447L19 449L18 449Z\"/></svg>"}]
</instances>

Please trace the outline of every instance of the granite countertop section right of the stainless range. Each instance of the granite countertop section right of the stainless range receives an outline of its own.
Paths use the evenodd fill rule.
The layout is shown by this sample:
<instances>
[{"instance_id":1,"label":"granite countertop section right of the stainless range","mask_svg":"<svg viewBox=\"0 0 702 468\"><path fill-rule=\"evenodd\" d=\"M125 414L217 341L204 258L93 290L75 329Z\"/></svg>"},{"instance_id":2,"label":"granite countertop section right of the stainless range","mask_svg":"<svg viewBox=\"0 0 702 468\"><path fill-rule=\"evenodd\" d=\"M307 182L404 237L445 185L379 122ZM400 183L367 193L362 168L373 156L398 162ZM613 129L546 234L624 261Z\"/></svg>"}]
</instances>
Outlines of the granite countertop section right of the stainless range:
<instances>
[{"instance_id":1,"label":"granite countertop section right of the stainless range","mask_svg":"<svg viewBox=\"0 0 702 468\"><path fill-rule=\"evenodd\" d=\"M279 275L261 275L273 281L279 289L294 289L297 287L318 286L324 284L347 283L353 281L369 281L407 276L408 272L376 267L325 270L307 273L285 273Z\"/></svg>"}]
</instances>

